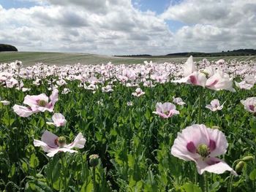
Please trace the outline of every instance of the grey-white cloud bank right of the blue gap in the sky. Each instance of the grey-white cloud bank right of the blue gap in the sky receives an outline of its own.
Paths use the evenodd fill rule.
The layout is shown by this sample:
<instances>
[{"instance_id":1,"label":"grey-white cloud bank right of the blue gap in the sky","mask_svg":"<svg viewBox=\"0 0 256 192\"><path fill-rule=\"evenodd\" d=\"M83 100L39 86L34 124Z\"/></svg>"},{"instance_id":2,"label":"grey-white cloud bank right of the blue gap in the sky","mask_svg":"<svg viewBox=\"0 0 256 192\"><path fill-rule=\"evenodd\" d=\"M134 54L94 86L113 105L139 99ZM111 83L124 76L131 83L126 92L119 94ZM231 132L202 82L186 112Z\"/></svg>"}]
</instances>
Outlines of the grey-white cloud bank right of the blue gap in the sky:
<instances>
[{"instance_id":1,"label":"grey-white cloud bank right of the blue gap in the sky","mask_svg":"<svg viewBox=\"0 0 256 192\"><path fill-rule=\"evenodd\" d=\"M160 18L187 24L175 34L181 50L256 47L255 0L187 0L170 6Z\"/></svg>"}]
</instances>

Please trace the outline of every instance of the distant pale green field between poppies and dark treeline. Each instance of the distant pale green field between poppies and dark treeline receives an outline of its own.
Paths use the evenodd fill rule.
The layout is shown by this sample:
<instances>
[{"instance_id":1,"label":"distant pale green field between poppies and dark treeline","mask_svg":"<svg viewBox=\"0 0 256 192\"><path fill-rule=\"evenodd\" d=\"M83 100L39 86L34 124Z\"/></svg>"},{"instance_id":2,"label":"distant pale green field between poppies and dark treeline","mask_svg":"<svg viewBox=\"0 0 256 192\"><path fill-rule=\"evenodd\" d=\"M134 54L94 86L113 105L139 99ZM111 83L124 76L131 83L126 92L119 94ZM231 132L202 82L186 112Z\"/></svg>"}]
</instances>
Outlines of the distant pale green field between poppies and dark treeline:
<instances>
[{"instance_id":1,"label":"distant pale green field between poppies and dark treeline","mask_svg":"<svg viewBox=\"0 0 256 192\"><path fill-rule=\"evenodd\" d=\"M209 57L209 61L217 61L220 58L236 61L256 61L256 56L225 56ZM143 64L143 61L164 62L182 62L187 58L121 58L108 55L94 55L86 53L46 53L46 52L2 52L0 53L0 63L10 63L13 61L22 61L24 66L31 66L38 62L49 65L73 65L73 64L106 64L109 61L112 64ZM203 58L195 58L200 61Z\"/></svg>"}]
</instances>

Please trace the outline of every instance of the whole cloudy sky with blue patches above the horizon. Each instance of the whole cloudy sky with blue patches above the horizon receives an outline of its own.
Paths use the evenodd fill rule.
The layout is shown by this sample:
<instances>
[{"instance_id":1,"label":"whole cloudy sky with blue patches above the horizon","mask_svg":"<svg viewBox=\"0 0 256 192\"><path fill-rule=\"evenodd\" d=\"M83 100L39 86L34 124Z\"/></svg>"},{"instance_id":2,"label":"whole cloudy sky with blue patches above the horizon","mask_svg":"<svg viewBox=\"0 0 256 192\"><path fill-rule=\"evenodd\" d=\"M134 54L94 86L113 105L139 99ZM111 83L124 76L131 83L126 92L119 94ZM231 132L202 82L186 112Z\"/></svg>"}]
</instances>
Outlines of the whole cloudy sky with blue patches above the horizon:
<instances>
[{"instance_id":1,"label":"whole cloudy sky with blue patches above the horizon","mask_svg":"<svg viewBox=\"0 0 256 192\"><path fill-rule=\"evenodd\" d=\"M0 43L104 55L256 48L256 0L0 0Z\"/></svg>"}]
</instances>

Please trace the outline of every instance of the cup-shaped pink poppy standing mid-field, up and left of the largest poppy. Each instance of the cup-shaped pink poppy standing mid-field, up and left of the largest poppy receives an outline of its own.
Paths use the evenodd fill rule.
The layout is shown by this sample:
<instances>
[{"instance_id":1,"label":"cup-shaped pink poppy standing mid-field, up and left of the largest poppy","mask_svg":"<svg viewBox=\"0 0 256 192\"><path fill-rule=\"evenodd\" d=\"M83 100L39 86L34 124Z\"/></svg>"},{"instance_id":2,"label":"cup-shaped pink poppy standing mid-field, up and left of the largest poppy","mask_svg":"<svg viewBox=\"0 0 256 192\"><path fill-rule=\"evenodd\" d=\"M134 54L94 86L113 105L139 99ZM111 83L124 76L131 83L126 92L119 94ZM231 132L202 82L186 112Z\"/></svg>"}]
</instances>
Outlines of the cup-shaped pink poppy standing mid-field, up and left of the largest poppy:
<instances>
[{"instance_id":1,"label":"cup-shaped pink poppy standing mid-field, up and left of the largest poppy","mask_svg":"<svg viewBox=\"0 0 256 192\"><path fill-rule=\"evenodd\" d=\"M157 111L154 114L159 115L161 118L170 118L173 115L178 115L179 112L176 110L176 106L170 102L157 103Z\"/></svg>"}]
</instances>

